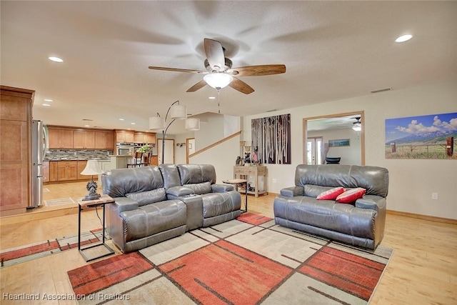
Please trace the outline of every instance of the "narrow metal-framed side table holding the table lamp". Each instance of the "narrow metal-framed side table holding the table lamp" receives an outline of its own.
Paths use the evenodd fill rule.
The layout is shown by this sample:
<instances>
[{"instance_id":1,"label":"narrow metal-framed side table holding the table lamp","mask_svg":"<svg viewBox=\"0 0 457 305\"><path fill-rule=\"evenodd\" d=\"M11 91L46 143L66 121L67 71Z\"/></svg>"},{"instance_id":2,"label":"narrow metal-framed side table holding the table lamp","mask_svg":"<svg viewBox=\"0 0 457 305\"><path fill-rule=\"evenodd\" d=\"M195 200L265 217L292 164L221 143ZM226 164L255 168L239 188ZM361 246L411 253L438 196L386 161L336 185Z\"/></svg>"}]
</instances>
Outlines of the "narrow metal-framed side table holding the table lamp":
<instances>
[{"instance_id":1,"label":"narrow metal-framed side table holding the table lamp","mask_svg":"<svg viewBox=\"0 0 457 305\"><path fill-rule=\"evenodd\" d=\"M114 250L111 249L107 244L105 244L105 205L112 204L112 203L114 203L114 199L112 199L108 195L101 195L101 197L99 199L95 199L95 200L84 201L84 200L82 200L82 198L78 199L78 251L81 254L81 256L84 257L84 259L86 261L92 261L94 259L99 259L101 257L114 254ZM102 233L102 238L101 238L101 244L94 244L91 246L87 246L84 249L81 249L81 210L84 207L95 207L96 208L97 206L103 206L103 226L101 228L101 231L103 233ZM91 257L91 258L88 258L86 256L86 254L84 253L84 250L95 248L98 246L104 246L108 250L108 252L101 254L99 256Z\"/></svg>"}]
</instances>

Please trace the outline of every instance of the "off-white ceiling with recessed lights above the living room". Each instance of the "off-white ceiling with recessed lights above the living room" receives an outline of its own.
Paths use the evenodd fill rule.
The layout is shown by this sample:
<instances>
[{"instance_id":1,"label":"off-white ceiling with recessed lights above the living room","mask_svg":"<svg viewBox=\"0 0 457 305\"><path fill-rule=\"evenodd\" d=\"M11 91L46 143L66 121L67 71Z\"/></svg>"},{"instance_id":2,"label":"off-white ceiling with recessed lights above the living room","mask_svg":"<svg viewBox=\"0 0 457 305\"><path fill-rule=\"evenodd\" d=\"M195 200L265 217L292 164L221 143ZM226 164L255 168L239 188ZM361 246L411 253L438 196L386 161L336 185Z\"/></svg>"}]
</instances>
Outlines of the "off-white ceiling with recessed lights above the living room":
<instances>
[{"instance_id":1,"label":"off-white ceiling with recessed lights above the living room","mask_svg":"<svg viewBox=\"0 0 457 305\"><path fill-rule=\"evenodd\" d=\"M457 76L456 1L1 1L1 84L36 90L47 124L148 129L176 100L217 112L216 90L186 90L204 69L204 38L233 67L285 64L221 90L233 116L420 86ZM411 41L394 42L401 34ZM59 56L64 63L49 61ZM54 101L42 106L44 99ZM351 109L348 109L349 111ZM328 109L328 114L332 110ZM119 121L123 118L124 121ZM131 125L131 123L136 123ZM174 124L174 133L184 129Z\"/></svg>"}]
</instances>

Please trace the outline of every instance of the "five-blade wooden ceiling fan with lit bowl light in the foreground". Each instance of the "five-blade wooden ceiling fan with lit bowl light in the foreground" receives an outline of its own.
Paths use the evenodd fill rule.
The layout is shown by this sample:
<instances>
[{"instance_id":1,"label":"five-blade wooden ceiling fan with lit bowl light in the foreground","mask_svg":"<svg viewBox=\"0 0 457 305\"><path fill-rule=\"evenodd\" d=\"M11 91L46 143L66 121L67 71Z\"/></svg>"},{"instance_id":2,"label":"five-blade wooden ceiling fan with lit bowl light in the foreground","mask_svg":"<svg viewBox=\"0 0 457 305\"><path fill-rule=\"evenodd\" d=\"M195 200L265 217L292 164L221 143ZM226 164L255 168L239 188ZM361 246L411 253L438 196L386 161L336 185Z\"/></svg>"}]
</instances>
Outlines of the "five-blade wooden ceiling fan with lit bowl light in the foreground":
<instances>
[{"instance_id":1,"label":"five-blade wooden ceiling fan with lit bowl light in the foreground","mask_svg":"<svg viewBox=\"0 0 457 305\"><path fill-rule=\"evenodd\" d=\"M149 66L149 69L163 70L163 71L176 71L186 73L205 74L204 79L191 86L186 92L197 91L206 84L217 89L218 91L226 86L231 86L233 89L242 92L243 94L250 94L254 91L251 86L241 81L236 76L264 76L281 74L286 72L286 66L283 64L266 64L259 66L241 66L232 68L232 62L224 55L224 47L219 41L213 39L204 39L204 49L206 59L204 70L191 70L191 69L176 69L166 68L161 66Z\"/></svg>"}]
</instances>

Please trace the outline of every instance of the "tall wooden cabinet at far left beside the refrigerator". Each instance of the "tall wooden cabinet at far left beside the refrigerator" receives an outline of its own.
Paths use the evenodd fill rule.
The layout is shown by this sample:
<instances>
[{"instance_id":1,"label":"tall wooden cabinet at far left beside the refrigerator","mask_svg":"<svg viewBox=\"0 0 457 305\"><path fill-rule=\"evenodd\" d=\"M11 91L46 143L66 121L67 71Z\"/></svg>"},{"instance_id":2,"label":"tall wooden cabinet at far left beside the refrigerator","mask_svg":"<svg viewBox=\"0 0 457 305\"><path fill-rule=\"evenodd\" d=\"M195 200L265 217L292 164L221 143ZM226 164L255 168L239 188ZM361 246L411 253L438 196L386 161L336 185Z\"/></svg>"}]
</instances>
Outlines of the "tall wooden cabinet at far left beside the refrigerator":
<instances>
[{"instance_id":1,"label":"tall wooden cabinet at far left beside the refrigerator","mask_svg":"<svg viewBox=\"0 0 457 305\"><path fill-rule=\"evenodd\" d=\"M31 109L34 90L0 86L0 216L31 205Z\"/></svg>"}]
</instances>

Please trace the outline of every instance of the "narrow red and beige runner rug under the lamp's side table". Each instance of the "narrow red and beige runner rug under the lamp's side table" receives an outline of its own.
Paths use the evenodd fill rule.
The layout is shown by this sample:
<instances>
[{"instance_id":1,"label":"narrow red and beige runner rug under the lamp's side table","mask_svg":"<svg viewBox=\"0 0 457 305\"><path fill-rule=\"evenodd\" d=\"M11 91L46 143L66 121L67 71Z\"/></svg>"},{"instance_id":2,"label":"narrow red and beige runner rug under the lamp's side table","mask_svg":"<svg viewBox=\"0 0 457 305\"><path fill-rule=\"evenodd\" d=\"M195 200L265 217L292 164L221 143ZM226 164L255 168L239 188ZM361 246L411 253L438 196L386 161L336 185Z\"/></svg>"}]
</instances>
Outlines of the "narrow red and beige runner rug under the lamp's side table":
<instances>
[{"instance_id":1,"label":"narrow red and beige runner rug under the lamp's side table","mask_svg":"<svg viewBox=\"0 0 457 305\"><path fill-rule=\"evenodd\" d=\"M81 233L81 246L101 242L102 231L95 229L89 232ZM105 234L105 239L111 239L108 234ZM40 257L50 254L56 254L61 251L74 249L78 247L78 234L72 236L64 236L58 239L49 239L47 241L40 241L35 244L26 246L19 246L16 248L6 249L0 251L1 266L11 266L19 264L24 261L32 259L39 259Z\"/></svg>"}]
</instances>

